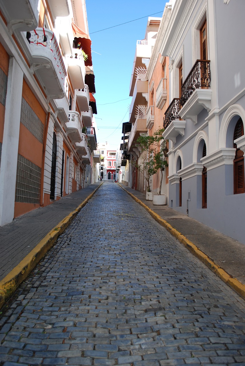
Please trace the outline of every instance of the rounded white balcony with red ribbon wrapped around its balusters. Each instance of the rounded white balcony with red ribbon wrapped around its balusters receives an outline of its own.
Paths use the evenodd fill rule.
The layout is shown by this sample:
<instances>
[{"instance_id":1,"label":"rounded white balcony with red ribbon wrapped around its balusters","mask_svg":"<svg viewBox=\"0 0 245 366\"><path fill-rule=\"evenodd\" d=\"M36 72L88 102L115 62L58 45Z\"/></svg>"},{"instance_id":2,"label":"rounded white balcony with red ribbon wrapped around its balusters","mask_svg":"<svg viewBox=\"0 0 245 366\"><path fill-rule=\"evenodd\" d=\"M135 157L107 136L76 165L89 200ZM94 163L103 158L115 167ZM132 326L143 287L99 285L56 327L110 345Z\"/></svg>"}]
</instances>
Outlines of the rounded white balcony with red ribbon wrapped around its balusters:
<instances>
[{"instance_id":1,"label":"rounded white balcony with red ribbon wrapped around its balusters","mask_svg":"<svg viewBox=\"0 0 245 366\"><path fill-rule=\"evenodd\" d=\"M30 70L37 75L45 94L50 99L64 97L66 68L55 34L45 28L27 32Z\"/></svg>"}]
</instances>

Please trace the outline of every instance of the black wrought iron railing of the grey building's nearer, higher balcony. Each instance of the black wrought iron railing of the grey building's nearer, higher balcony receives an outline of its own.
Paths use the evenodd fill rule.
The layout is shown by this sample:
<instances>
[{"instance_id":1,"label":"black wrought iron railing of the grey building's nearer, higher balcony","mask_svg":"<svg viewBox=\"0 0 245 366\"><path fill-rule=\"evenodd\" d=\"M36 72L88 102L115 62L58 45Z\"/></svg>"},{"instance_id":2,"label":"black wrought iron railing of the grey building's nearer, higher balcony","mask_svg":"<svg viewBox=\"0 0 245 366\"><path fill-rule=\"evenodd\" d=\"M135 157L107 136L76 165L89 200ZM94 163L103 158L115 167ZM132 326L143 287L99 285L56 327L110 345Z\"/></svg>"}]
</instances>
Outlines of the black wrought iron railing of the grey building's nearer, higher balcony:
<instances>
[{"instance_id":1,"label":"black wrought iron railing of the grey building's nearer, higher balcony","mask_svg":"<svg viewBox=\"0 0 245 366\"><path fill-rule=\"evenodd\" d=\"M181 106L185 104L196 89L208 89L210 87L210 61L197 60L189 75L181 87Z\"/></svg>"}]
</instances>

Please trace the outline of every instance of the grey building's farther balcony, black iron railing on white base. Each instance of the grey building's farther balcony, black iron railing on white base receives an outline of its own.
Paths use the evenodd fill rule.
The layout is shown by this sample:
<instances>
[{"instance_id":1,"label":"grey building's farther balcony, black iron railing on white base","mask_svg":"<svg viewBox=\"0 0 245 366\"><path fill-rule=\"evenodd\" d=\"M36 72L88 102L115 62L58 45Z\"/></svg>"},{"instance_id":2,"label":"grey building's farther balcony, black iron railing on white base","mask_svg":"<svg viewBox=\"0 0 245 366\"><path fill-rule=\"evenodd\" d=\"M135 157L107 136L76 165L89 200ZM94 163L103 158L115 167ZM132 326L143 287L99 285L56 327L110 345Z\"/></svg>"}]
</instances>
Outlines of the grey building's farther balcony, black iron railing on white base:
<instances>
[{"instance_id":1,"label":"grey building's farther balcony, black iron railing on white base","mask_svg":"<svg viewBox=\"0 0 245 366\"><path fill-rule=\"evenodd\" d=\"M165 112L165 118L163 120L163 138L170 139L173 143L176 142L176 137L180 134L185 134L185 120L180 120L180 99L174 98L170 103L168 109Z\"/></svg>"}]
</instances>

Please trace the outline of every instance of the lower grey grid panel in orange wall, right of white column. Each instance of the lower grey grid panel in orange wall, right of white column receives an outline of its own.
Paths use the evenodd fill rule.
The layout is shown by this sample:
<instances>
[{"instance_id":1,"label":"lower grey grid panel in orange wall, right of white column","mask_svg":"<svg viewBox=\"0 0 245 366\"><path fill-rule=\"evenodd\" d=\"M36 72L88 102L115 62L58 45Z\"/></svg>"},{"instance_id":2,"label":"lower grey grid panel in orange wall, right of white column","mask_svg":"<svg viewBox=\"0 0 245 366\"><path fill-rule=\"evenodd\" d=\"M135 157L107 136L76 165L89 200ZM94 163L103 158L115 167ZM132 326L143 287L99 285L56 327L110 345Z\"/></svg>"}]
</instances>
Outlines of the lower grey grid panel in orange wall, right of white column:
<instances>
[{"instance_id":1,"label":"lower grey grid panel in orange wall, right of white column","mask_svg":"<svg viewBox=\"0 0 245 366\"><path fill-rule=\"evenodd\" d=\"M18 154L15 201L40 203L41 168Z\"/></svg>"}]
</instances>

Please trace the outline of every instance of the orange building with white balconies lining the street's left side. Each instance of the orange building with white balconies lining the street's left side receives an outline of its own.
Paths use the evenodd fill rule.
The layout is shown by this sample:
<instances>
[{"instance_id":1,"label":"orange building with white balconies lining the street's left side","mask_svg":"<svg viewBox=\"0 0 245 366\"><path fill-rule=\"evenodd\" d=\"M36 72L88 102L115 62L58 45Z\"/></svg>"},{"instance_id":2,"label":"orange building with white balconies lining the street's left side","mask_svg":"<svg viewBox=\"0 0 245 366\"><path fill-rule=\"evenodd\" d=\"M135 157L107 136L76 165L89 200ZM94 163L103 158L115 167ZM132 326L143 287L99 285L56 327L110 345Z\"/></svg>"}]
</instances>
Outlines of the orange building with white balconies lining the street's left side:
<instances>
[{"instance_id":1,"label":"orange building with white balconies lining the street's left side","mask_svg":"<svg viewBox=\"0 0 245 366\"><path fill-rule=\"evenodd\" d=\"M75 14L75 16L74 16ZM0 225L96 181L85 1L0 5Z\"/></svg>"}]
</instances>

